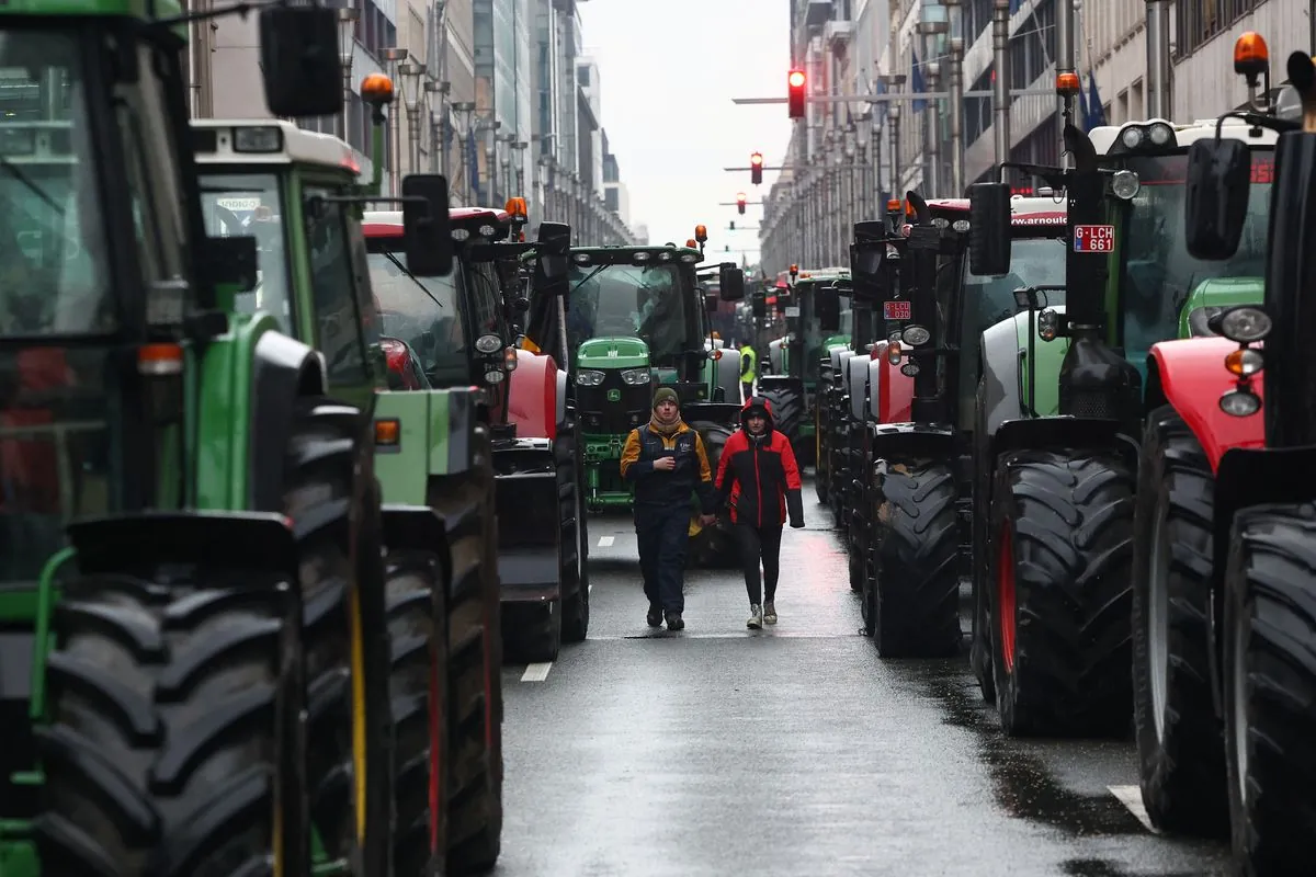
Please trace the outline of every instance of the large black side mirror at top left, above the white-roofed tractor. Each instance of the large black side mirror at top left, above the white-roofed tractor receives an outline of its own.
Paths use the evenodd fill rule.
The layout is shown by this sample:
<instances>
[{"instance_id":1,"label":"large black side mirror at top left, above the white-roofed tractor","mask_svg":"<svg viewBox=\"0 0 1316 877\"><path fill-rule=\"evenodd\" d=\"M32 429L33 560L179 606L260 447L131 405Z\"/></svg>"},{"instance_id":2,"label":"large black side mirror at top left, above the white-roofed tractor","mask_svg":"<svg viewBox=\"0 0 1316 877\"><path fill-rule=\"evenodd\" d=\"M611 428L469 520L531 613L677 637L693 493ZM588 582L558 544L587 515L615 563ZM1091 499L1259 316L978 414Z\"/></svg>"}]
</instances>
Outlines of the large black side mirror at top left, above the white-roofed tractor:
<instances>
[{"instance_id":1,"label":"large black side mirror at top left, above the white-roofed tractor","mask_svg":"<svg viewBox=\"0 0 1316 877\"><path fill-rule=\"evenodd\" d=\"M337 13L320 7L271 4L261 9L259 29L261 71L270 113L276 117L341 113Z\"/></svg>"}]
</instances>

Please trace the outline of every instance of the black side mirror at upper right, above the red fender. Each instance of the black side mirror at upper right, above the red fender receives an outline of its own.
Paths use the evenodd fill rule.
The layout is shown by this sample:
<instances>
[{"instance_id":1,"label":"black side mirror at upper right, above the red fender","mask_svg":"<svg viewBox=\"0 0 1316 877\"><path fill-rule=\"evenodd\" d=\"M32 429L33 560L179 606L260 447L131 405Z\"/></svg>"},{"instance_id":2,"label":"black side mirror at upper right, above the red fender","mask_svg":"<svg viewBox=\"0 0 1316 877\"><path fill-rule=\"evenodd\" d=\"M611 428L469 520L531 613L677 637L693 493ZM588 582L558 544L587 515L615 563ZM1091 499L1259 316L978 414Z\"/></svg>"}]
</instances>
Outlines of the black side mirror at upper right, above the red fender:
<instances>
[{"instance_id":1,"label":"black side mirror at upper right, above the red fender","mask_svg":"<svg viewBox=\"0 0 1316 877\"><path fill-rule=\"evenodd\" d=\"M1183 218L1192 258L1221 260L1238 251L1250 181L1252 153L1242 141L1196 141L1188 149Z\"/></svg>"}]
</instances>

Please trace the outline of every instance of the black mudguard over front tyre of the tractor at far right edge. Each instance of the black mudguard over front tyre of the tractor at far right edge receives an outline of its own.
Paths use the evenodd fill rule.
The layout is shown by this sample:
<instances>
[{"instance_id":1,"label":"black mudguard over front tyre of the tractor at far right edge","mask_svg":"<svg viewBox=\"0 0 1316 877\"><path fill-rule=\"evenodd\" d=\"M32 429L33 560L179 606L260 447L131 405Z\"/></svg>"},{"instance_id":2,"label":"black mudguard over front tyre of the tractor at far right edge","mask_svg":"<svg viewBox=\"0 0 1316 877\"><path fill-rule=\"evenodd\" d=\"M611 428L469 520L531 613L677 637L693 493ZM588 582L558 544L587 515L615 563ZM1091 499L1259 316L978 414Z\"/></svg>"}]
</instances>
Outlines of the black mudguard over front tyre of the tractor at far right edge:
<instances>
[{"instance_id":1,"label":"black mudguard over front tyre of the tractor at far right edge","mask_svg":"<svg viewBox=\"0 0 1316 877\"><path fill-rule=\"evenodd\" d=\"M1211 602L1213 623L1207 625L1211 638L1211 690L1216 696L1216 714L1221 711L1224 643L1216 632L1224 625L1224 575L1229 561L1229 536L1234 515L1242 509L1270 504L1298 504L1316 500L1316 446L1286 448L1232 447L1216 468L1213 522L1213 560L1211 567Z\"/></svg>"}]
</instances>

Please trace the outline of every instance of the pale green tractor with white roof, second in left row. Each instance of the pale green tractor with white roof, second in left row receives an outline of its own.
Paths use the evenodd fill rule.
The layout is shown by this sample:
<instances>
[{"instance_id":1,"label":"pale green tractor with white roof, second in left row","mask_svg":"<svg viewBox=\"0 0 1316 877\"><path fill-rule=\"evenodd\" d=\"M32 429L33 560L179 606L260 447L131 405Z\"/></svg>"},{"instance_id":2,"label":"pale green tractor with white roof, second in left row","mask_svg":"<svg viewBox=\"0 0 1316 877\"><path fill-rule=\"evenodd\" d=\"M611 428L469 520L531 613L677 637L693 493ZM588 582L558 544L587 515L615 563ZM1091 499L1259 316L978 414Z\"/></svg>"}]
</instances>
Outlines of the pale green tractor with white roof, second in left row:
<instances>
[{"instance_id":1,"label":"pale green tractor with white roof, second in left row","mask_svg":"<svg viewBox=\"0 0 1316 877\"><path fill-rule=\"evenodd\" d=\"M376 121L382 153L383 116ZM357 393L366 368L374 388L374 468L384 504L387 611L395 635L434 623L417 614L424 604L411 598L407 582L433 575L426 572L433 567L447 586L436 604L443 615L434 640L446 643L447 653L436 667L436 697L445 702L433 719L424 709L426 698L417 699L425 693L417 686L428 688L426 675L417 676L424 655L401 648L403 640L393 646L395 677L411 693L392 699L400 768L395 868L420 873L432 860L432 844L440 855L447 851L449 873L492 866L501 802L497 581L482 579L472 564L486 534L472 526L466 508L472 496L486 496L479 488L492 481L479 396L467 388L388 391L396 385L395 347L401 342L380 335L368 280L353 283L368 276L359 251L361 206L376 197L380 166L362 183L362 160L351 147L290 122L193 120L192 134L208 231L250 235L258 246L255 288L236 297L236 312L270 314L280 331L318 347L330 375L353 375ZM404 191L426 180L436 183L409 176ZM434 197L447 202L441 191ZM422 271L415 260L407 268ZM428 472L428 494L403 494L397 485L417 472ZM432 727L432 721L443 726ZM451 784L442 798L437 785L429 786L430 755L443 765L437 776ZM442 814L433 827L430 811Z\"/></svg>"}]
</instances>

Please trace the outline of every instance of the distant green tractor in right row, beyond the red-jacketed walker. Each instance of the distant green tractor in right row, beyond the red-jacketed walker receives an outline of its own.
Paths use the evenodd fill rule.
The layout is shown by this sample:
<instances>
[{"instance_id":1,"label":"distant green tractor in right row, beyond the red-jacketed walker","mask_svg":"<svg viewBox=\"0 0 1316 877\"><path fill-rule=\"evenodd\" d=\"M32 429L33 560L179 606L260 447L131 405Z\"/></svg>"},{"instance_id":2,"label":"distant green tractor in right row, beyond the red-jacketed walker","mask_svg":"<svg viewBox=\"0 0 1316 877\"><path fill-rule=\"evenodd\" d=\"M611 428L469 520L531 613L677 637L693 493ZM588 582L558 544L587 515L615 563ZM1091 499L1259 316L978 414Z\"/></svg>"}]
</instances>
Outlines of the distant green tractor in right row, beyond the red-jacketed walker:
<instances>
[{"instance_id":1,"label":"distant green tractor in right row, beyond the red-jacketed walker","mask_svg":"<svg viewBox=\"0 0 1316 877\"><path fill-rule=\"evenodd\" d=\"M842 333L838 321L821 325L816 291L834 287L849 276L849 268L792 271L787 288L776 291L787 334L769 343L771 373L759 379L759 391L771 400L776 426L791 439L800 465L811 465L819 458L816 396L820 360L830 347L844 347L849 342L849 333Z\"/></svg>"}]
</instances>

